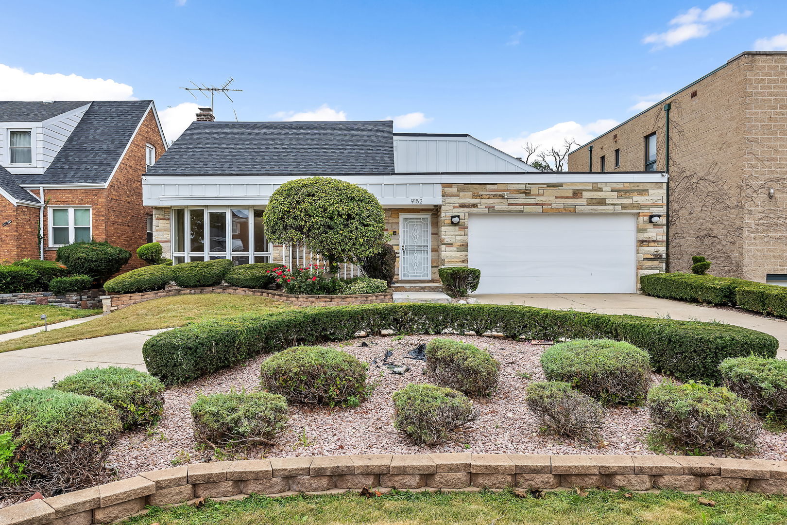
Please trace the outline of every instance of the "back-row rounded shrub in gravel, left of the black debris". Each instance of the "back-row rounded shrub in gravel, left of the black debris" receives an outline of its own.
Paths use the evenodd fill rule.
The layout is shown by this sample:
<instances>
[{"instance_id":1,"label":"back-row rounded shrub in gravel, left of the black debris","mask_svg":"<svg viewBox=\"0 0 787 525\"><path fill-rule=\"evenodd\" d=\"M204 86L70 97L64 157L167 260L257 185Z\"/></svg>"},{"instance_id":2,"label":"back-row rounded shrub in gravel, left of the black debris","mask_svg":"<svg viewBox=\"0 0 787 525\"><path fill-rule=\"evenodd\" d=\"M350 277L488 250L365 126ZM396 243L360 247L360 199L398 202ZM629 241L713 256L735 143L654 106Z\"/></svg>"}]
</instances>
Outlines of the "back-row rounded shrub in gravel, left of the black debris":
<instances>
[{"instance_id":1,"label":"back-row rounded shrub in gravel, left of the black debris","mask_svg":"<svg viewBox=\"0 0 787 525\"><path fill-rule=\"evenodd\" d=\"M290 401L357 405L368 394L368 364L325 346L293 346L262 362L262 385Z\"/></svg>"}]
</instances>

